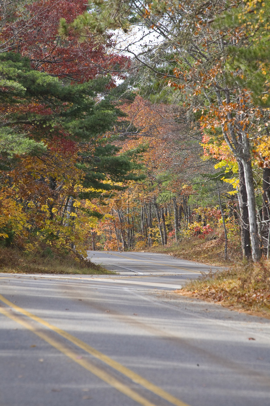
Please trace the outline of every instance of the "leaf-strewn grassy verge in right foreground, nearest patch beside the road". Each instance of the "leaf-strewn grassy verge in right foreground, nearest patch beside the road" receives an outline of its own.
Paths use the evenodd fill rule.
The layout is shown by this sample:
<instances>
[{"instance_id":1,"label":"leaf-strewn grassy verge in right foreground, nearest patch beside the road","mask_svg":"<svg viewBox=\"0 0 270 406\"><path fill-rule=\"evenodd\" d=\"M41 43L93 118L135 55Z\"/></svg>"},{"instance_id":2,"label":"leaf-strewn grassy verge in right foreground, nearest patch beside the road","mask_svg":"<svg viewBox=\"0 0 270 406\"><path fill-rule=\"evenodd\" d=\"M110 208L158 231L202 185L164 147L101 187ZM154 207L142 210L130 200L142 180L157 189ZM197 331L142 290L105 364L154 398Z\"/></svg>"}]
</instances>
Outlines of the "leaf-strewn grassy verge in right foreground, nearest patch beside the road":
<instances>
[{"instance_id":1,"label":"leaf-strewn grassy verge in right foreground, nearest patch beside the road","mask_svg":"<svg viewBox=\"0 0 270 406\"><path fill-rule=\"evenodd\" d=\"M237 263L228 270L202 274L176 292L270 318L270 262Z\"/></svg>"}]
</instances>

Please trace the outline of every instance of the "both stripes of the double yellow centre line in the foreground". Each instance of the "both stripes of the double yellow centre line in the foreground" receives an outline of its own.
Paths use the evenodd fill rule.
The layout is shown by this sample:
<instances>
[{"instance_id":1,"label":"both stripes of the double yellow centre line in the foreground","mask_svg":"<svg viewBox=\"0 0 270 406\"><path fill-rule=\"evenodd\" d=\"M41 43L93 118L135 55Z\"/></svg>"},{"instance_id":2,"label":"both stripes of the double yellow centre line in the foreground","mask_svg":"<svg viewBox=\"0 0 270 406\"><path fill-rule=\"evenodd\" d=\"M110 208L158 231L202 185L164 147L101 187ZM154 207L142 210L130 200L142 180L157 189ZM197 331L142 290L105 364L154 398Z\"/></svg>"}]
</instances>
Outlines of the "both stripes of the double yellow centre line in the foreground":
<instances>
[{"instance_id":1,"label":"both stripes of the double yellow centre line in the foreground","mask_svg":"<svg viewBox=\"0 0 270 406\"><path fill-rule=\"evenodd\" d=\"M21 315L29 317L31 320L34 320L35 322L47 327L49 330L52 330L54 333L57 333L61 337L65 338L68 340L70 343L73 343L75 346L81 348L88 354L91 354L95 358L99 359L106 365L110 366L111 368L115 369L116 371L120 372L123 374L125 377L130 378L133 382L139 384L140 386L144 387L145 389L151 391L155 395L158 395L159 397L163 398L164 400L167 400L174 406L189 406L186 403L182 402L181 400L177 399L176 397L170 395L170 393L164 391L163 389L159 388L158 386L154 385L153 383L149 382L145 378L142 378L142 376L136 374L134 371L131 369L128 369L118 363L117 361L114 361L112 358L106 356L102 352L96 350L95 348L89 346L88 344L84 343L83 341L79 340L78 338L74 337L73 335L67 333L64 330L61 330L60 328L53 326L52 324L46 322L45 320L41 319L40 317L28 312L27 310L17 306L16 304L13 304L11 301L8 299L4 298L4 296L0 295L0 301L5 303L7 306L11 307L12 309L16 310L17 312L21 313ZM74 362L78 363L81 365L81 367L87 369L90 371L92 374L98 376L98 378L102 379L104 382L108 383L115 389L117 389L119 392L123 393L124 395L130 397L132 400L137 402L138 404L141 404L142 406L157 406L156 404L153 404L149 400L147 400L146 397L140 395L133 389L130 389L128 385L123 384L120 380L116 379L113 375L109 374L108 372L105 372L103 369L96 367L93 363L90 361L78 357L78 354L65 344L63 344L60 340L58 341L57 339L53 339L50 337L48 333L46 333L46 330L40 330L36 328L33 324L25 320L23 317L20 315L17 315L16 313L12 312L11 309L6 309L5 307L0 307L0 313L5 315L6 317L9 317L11 320L21 324L23 327L27 328L28 330L32 331L32 333L36 334L38 337L41 339L47 341L51 346L71 358Z\"/></svg>"}]
</instances>

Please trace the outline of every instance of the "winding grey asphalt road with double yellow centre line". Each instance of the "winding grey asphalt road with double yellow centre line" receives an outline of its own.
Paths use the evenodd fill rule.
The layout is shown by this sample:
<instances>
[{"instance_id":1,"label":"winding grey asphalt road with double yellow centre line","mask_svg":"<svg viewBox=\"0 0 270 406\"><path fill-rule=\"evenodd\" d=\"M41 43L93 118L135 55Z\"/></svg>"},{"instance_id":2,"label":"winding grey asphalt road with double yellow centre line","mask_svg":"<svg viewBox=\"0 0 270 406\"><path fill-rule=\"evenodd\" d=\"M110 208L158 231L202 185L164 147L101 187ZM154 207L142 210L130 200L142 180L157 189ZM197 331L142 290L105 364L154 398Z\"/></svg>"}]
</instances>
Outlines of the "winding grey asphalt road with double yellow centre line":
<instances>
[{"instance_id":1,"label":"winding grey asphalt road with double yellow centre line","mask_svg":"<svg viewBox=\"0 0 270 406\"><path fill-rule=\"evenodd\" d=\"M209 267L89 257L119 274L0 274L0 406L269 406L270 320L174 293Z\"/></svg>"}]
</instances>

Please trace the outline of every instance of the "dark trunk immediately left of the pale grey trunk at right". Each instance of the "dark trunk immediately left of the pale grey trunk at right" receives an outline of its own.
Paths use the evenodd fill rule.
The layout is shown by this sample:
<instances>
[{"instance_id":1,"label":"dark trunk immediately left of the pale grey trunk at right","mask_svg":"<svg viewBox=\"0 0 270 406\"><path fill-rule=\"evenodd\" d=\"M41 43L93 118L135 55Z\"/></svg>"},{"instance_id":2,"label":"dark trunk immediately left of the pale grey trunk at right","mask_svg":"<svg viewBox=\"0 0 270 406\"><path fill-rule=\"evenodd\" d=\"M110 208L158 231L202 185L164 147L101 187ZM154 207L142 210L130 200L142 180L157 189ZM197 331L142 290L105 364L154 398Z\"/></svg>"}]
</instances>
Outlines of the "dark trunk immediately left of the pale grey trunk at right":
<instances>
[{"instance_id":1,"label":"dark trunk immediately left of the pale grey trunk at right","mask_svg":"<svg viewBox=\"0 0 270 406\"><path fill-rule=\"evenodd\" d=\"M247 207L247 189L244 179L244 166L240 160L238 162L239 175L239 205L240 205L240 231L243 258L251 258L251 245L249 238L249 209Z\"/></svg>"}]
</instances>

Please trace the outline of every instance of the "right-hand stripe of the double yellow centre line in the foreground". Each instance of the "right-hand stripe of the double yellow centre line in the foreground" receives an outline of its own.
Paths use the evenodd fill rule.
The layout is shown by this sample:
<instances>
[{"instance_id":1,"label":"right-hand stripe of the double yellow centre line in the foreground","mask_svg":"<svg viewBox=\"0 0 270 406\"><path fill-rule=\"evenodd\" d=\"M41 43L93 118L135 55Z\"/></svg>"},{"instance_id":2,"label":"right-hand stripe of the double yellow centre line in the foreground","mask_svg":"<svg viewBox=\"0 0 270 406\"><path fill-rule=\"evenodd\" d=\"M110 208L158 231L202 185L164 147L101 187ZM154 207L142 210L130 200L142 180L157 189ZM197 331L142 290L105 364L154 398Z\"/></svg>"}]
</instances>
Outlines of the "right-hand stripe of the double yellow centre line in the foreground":
<instances>
[{"instance_id":1,"label":"right-hand stripe of the double yellow centre line in the foreground","mask_svg":"<svg viewBox=\"0 0 270 406\"><path fill-rule=\"evenodd\" d=\"M40 317L28 312L25 309L22 309L21 307L17 306L16 304L13 304L8 299L4 298L4 296L0 295L0 300L2 302L4 302L5 304L7 304L8 306L12 307L13 309L17 310L21 314L23 314L23 315L25 315L27 317L30 317L32 320L35 320L36 322L42 324L43 326L46 326L50 330L53 330L55 333L57 333L60 336L64 337L65 339L67 339L71 343L75 344L77 347L79 347L82 350L88 352L88 354L91 354L95 358L98 358L100 361L102 361L105 364L109 365L110 367L112 367L116 371L119 371L121 374L125 375L126 377L132 379L134 382L136 382L137 384L140 384L145 389L148 389L149 391L155 393L159 397L162 397L163 399L167 400L171 404L173 404L175 406L189 406L186 403L182 402L181 400L177 399L176 397L170 395L170 393L164 391L162 388L159 388L155 384L149 382L147 379L142 378L142 376L136 374L136 372L132 371L131 369L128 369L128 368L124 367L123 365L121 365L117 361L114 361L112 358L106 356L102 352L100 352L100 351L96 350L95 348L89 346L88 344L84 343L80 339L74 337L73 335L67 333L64 330L61 330L60 328L58 328L56 326L53 326L52 324L49 324L45 320L43 320ZM3 308L0 308L1 312L2 312L2 310L3 310ZM8 312L6 312L6 313L8 313ZM9 313L7 315L10 316ZM46 339L46 341L47 341L47 339ZM47 341L47 342L49 342L49 341ZM51 344L51 345L53 345L53 344ZM60 351L62 351L62 350L60 350ZM78 361L81 361L81 360L75 359L75 361L78 362ZM101 379L103 379L103 378L101 378ZM105 381L105 382L107 382L107 381ZM111 384L110 382L108 382L108 383ZM138 402L138 403L140 403L140 402ZM142 403L140 403L140 404L142 404ZM144 405L147 405L147 404L144 404Z\"/></svg>"}]
</instances>

